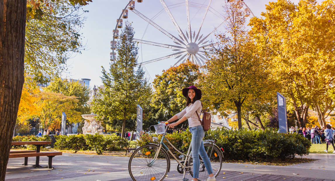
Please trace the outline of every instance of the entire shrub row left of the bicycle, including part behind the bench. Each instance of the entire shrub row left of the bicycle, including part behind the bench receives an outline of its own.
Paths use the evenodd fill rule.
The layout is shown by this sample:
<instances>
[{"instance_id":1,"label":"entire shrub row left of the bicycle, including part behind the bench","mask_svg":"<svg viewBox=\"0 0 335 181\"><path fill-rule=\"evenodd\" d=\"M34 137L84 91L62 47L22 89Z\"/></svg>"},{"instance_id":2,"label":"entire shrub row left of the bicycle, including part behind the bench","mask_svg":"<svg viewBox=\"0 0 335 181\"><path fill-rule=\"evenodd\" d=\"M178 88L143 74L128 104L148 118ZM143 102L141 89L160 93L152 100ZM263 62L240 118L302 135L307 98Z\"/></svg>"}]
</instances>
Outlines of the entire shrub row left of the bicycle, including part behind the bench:
<instances>
[{"instance_id":1,"label":"entire shrub row left of the bicycle, including part behind the bench","mask_svg":"<svg viewBox=\"0 0 335 181\"><path fill-rule=\"evenodd\" d=\"M55 136L56 143L54 144L55 149L60 150L74 150L75 153L79 150L93 150L98 155L102 154L104 151L117 151L121 150L128 145L128 140L121 138L116 135L59 135ZM34 135L31 136L15 136L13 141L51 141L50 137L45 135L38 138ZM46 145L48 146L48 145ZM16 146L13 145L12 148L25 148L28 150L36 150L34 145L26 146ZM44 149L45 146L41 146Z\"/></svg>"}]
</instances>

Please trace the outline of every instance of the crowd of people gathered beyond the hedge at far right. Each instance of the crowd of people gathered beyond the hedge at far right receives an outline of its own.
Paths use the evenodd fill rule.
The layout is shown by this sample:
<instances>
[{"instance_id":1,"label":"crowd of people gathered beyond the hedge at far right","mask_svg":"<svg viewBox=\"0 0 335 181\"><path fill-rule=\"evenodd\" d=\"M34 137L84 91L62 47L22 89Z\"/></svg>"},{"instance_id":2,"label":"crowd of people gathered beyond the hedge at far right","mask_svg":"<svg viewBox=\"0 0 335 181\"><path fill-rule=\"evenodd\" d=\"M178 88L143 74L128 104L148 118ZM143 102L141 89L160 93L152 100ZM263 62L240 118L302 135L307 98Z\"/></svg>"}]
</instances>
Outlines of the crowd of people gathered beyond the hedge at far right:
<instances>
[{"instance_id":1,"label":"crowd of people gathered beyond the hedge at far right","mask_svg":"<svg viewBox=\"0 0 335 181\"><path fill-rule=\"evenodd\" d=\"M295 128L292 126L289 129L291 134L296 133ZM328 152L328 145L332 145L334 148L333 153L335 153L334 147L334 137L335 137L335 128L331 127L329 124L326 125L326 128L319 128L318 126L315 127L300 127L298 130L298 134L304 136L306 139L312 142L312 144L322 144L326 143L326 150Z\"/></svg>"}]
</instances>

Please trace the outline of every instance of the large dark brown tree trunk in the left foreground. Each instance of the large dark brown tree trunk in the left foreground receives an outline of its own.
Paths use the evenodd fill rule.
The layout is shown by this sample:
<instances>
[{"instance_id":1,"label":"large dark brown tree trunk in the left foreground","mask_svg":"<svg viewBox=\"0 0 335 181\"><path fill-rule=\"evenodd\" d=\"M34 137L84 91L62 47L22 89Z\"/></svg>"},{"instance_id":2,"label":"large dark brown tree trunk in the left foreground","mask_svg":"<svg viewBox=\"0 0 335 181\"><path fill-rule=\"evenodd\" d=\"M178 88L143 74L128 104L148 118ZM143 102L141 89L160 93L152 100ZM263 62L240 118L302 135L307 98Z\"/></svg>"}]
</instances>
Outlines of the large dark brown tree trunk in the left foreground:
<instances>
[{"instance_id":1,"label":"large dark brown tree trunk in the left foreground","mask_svg":"<svg viewBox=\"0 0 335 181\"><path fill-rule=\"evenodd\" d=\"M0 0L0 181L5 180L24 82L26 0Z\"/></svg>"}]
</instances>

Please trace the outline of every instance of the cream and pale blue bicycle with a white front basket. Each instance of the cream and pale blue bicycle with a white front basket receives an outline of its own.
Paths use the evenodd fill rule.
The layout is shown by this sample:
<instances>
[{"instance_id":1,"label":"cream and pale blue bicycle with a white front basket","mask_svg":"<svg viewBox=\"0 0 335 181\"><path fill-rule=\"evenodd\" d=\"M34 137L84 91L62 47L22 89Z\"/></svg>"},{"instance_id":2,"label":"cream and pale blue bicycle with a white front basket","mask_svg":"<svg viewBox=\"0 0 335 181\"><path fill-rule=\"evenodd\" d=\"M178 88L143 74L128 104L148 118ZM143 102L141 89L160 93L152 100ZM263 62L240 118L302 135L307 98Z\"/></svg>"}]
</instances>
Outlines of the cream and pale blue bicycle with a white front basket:
<instances>
[{"instance_id":1,"label":"cream and pale blue bicycle with a white front basket","mask_svg":"<svg viewBox=\"0 0 335 181\"><path fill-rule=\"evenodd\" d=\"M162 134L162 138L158 144L149 143L147 145L141 146L130 156L128 170L131 178L134 181L163 180L167 172L170 172L170 155L172 155L172 157L178 162L177 171L183 174L183 181L188 180L185 178L186 172L190 172L190 175L193 177L191 144L186 155L179 151L169 140L165 138L166 131L168 129L167 125L169 125L167 122L165 122L165 124L158 124L158 126L154 125L155 129L157 126L157 134ZM163 140L165 140L174 150L181 154L179 158L182 158L182 161L179 161L177 157L171 152L171 150L167 148L167 146L163 143ZM158 141L158 138L153 137L153 141ZM211 162L213 174L216 177L222 168L223 154L220 148L214 144L214 140L203 140L203 142ZM170 155L168 153L170 153ZM199 158L200 167L198 180L205 181L208 178L208 172L200 156Z\"/></svg>"}]
</instances>

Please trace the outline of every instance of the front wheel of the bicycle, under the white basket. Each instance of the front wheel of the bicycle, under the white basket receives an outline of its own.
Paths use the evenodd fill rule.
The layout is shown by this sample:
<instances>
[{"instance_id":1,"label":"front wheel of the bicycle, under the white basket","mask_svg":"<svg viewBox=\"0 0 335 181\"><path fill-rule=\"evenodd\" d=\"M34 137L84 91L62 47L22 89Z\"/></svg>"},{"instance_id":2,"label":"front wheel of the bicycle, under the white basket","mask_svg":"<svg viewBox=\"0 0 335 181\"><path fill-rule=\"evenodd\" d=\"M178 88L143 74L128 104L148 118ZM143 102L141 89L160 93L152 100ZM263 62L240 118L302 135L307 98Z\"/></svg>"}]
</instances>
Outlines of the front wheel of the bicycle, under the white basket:
<instances>
[{"instance_id":1,"label":"front wheel of the bicycle, under the white basket","mask_svg":"<svg viewBox=\"0 0 335 181\"><path fill-rule=\"evenodd\" d=\"M158 146L148 144L141 146L130 156L128 170L131 178L135 181L161 181L164 179L169 168L169 160L166 151Z\"/></svg>"}]
</instances>

